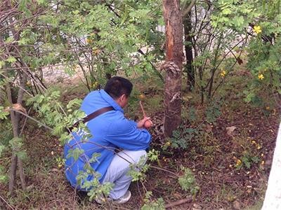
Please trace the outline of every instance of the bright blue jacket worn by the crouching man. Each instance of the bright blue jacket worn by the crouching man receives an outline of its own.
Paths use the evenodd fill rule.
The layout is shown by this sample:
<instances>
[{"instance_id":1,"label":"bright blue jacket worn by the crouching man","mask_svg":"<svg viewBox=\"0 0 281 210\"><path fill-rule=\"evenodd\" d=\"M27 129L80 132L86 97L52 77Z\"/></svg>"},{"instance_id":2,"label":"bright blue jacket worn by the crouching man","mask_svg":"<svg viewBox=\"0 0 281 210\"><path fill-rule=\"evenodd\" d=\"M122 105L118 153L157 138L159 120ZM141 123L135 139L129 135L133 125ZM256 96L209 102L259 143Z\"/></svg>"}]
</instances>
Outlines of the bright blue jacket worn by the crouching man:
<instances>
[{"instance_id":1,"label":"bright blue jacket worn by the crouching man","mask_svg":"<svg viewBox=\"0 0 281 210\"><path fill-rule=\"evenodd\" d=\"M101 182L115 155L115 148L140 151L148 148L150 144L150 133L145 129L138 129L133 120L126 119L123 109L104 90L90 92L82 102L81 110L89 115L105 106L113 106L115 110L107 111L86 123L92 135L88 141L81 142L79 133L72 133L74 138L65 144L65 175L71 185L78 189L81 188L77 186L76 176L79 172L84 172L86 158L90 160L94 153L100 153L98 161L91 163L91 167L100 174ZM84 154L81 154L76 161L72 157L67 158L70 148L81 148ZM87 177L88 181L91 179L93 176Z\"/></svg>"}]
</instances>

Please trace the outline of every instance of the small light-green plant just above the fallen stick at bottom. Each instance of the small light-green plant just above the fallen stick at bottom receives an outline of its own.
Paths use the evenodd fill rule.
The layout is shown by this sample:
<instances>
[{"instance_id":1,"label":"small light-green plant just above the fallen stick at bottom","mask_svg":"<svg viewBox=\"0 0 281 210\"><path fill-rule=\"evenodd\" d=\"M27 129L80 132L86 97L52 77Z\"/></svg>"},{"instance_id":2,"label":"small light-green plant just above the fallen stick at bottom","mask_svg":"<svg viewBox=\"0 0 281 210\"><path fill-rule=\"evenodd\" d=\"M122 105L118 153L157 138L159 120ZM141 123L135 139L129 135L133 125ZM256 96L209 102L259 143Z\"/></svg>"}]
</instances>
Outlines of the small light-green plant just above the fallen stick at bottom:
<instances>
[{"instance_id":1,"label":"small light-green plant just above the fallen stick at bottom","mask_svg":"<svg viewBox=\"0 0 281 210\"><path fill-rule=\"evenodd\" d=\"M184 174L178 177L178 183L183 190L190 192L195 196L200 190L200 187L197 186L194 174L188 168L181 167L181 169L184 171Z\"/></svg>"}]
</instances>

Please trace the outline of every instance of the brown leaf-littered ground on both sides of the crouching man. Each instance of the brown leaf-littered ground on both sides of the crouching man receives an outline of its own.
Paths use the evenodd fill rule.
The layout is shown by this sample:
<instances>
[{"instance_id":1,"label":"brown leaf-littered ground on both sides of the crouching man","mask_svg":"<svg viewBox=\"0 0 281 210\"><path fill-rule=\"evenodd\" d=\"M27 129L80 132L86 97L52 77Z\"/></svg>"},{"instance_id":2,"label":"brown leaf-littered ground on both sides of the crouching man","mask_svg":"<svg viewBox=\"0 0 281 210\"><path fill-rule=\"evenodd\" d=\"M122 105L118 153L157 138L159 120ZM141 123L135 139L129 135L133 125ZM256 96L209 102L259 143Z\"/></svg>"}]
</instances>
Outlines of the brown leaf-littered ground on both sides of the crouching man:
<instances>
[{"instance_id":1,"label":"brown leaf-littered ground on both sides of the crouching man","mask_svg":"<svg viewBox=\"0 0 281 210\"><path fill-rule=\"evenodd\" d=\"M67 95L64 99L73 97L79 96ZM162 151L159 162L151 163L145 182L131 184L132 199L123 206L100 206L89 202L86 195L76 193L65 180L63 168L58 166L58 158L63 153L58 139L46 130L38 129L37 125L29 124L25 130L29 157L25 173L29 191L17 190L11 196L7 193L7 186L2 185L1 197L9 204L0 202L0 209L140 209L147 190L152 191L152 199L162 197L165 204L169 204L190 195L178 185L175 174L182 174L181 166L192 169L200 191L192 202L172 209L251 207L262 201L266 190L280 113L273 108L265 110L244 103L233 109L230 104L221 107L221 116L216 123L199 123L205 132L205 140L200 141L204 142L204 147L198 148L199 141L192 140L185 150L168 147L163 151L167 141L162 134L164 113L155 111L151 116L154 123L150 129L153 137L151 148ZM185 120L183 127L196 128L199 124ZM236 128L228 134L226 128L231 126ZM259 160L251 162L249 169L237 169L237 159L241 160L246 152L256 155ZM9 161L6 158L0 163L8 167Z\"/></svg>"}]
</instances>

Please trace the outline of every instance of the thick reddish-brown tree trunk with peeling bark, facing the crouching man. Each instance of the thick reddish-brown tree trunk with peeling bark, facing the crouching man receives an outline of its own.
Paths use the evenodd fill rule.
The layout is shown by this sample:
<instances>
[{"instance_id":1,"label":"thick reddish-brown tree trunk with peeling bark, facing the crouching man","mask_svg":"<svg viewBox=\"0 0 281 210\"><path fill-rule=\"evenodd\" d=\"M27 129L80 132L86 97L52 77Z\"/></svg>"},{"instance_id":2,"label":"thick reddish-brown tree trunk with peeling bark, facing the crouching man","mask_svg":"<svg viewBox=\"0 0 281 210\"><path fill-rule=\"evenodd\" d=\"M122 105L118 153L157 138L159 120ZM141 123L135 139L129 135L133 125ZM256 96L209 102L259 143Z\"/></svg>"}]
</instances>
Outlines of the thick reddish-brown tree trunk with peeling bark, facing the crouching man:
<instances>
[{"instance_id":1,"label":"thick reddish-brown tree trunk with peeling bark, facing the crouching man","mask_svg":"<svg viewBox=\"0 0 281 210\"><path fill-rule=\"evenodd\" d=\"M181 123L181 69L183 67L183 20L178 0L163 0L166 33L164 87L164 135L171 137Z\"/></svg>"}]
</instances>

